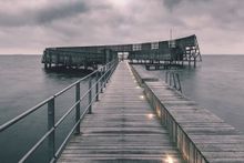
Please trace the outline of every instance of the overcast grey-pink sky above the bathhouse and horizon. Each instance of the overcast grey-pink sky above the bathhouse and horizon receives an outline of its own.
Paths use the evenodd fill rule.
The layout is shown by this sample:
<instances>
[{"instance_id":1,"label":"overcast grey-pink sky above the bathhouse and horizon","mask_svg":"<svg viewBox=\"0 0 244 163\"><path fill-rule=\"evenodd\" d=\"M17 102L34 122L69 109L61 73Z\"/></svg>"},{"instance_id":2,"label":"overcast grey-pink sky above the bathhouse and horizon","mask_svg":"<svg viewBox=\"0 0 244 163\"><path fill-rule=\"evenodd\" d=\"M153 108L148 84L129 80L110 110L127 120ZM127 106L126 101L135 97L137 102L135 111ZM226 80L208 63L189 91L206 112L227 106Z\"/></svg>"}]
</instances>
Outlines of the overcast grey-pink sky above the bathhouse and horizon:
<instances>
[{"instance_id":1,"label":"overcast grey-pink sky above the bathhouse and horizon","mask_svg":"<svg viewBox=\"0 0 244 163\"><path fill-rule=\"evenodd\" d=\"M0 53L196 34L201 52L244 54L244 0L0 0Z\"/></svg>"}]
</instances>

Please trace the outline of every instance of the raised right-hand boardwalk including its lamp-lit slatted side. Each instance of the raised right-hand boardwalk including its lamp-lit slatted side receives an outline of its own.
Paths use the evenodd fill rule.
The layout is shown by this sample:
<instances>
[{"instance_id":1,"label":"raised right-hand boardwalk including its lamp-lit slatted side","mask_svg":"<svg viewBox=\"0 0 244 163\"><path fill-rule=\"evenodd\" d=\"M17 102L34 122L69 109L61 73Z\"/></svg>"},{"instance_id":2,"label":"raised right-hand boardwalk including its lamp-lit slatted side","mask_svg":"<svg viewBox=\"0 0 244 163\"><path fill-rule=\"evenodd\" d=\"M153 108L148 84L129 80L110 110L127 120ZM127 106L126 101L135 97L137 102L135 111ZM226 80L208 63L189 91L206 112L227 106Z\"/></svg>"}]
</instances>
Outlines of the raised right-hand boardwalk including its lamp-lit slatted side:
<instances>
[{"instance_id":1,"label":"raised right-hand boardwalk including its lamp-lit slatted side","mask_svg":"<svg viewBox=\"0 0 244 163\"><path fill-rule=\"evenodd\" d=\"M142 67L138 77L148 79ZM153 78L153 77L150 77ZM190 163L244 163L244 134L163 81L145 82L145 93ZM205 161L203 161L203 157Z\"/></svg>"}]
</instances>

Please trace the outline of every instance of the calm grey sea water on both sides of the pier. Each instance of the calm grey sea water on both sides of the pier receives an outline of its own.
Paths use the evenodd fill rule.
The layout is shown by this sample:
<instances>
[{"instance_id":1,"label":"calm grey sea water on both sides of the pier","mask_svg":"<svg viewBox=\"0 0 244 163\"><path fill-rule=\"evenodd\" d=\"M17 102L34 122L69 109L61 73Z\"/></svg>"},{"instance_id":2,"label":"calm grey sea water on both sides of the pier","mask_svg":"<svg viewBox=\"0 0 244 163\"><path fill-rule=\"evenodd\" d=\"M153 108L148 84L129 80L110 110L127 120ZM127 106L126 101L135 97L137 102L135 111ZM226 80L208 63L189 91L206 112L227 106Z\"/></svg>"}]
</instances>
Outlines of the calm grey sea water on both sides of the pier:
<instances>
[{"instance_id":1,"label":"calm grey sea water on both sides of the pier","mask_svg":"<svg viewBox=\"0 0 244 163\"><path fill-rule=\"evenodd\" d=\"M47 72L39 55L0 55L0 124L77 81L83 74ZM244 55L204 55L196 69L180 71L183 93L244 131ZM164 71L150 71L164 79ZM84 91L87 83L81 85ZM57 118L74 101L74 90L57 99ZM74 116L71 113L71 120ZM63 122L69 129L73 122ZM33 125L34 124L34 125ZM0 162L17 162L47 131L47 108L0 134ZM58 130L64 135L68 130ZM57 144L60 144L59 137ZM30 162L47 162L47 142Z\"/></svg>"}]
</instances>

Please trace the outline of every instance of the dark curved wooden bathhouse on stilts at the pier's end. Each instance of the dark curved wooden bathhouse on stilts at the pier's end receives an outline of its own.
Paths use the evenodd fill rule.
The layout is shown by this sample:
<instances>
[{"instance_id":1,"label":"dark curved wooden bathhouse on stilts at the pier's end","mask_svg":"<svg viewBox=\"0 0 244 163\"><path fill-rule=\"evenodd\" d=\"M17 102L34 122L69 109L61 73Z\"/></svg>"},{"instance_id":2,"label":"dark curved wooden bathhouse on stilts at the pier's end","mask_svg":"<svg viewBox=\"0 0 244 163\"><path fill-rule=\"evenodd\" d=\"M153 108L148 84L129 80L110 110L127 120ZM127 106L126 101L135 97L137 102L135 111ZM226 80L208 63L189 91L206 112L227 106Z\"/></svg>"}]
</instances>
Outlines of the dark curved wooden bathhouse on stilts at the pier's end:
<instances>
[{"instance_id":1,"label":"dark curved wooden bathhouse on stilts at the pier's end","mask_svg":"<svg viewBox=\"0 0 244 163\"><path fill-rule=\"evenodd\" d=\"M201 61L196 35L175 40L154 41L134 44L91 45L91 47L59 47L47 48L42 63L45 68L63 65L67 68L96 67L118 59L118 53L126 52L132 63L146 64L184 64Z\"/></svg>"}]
</instances>

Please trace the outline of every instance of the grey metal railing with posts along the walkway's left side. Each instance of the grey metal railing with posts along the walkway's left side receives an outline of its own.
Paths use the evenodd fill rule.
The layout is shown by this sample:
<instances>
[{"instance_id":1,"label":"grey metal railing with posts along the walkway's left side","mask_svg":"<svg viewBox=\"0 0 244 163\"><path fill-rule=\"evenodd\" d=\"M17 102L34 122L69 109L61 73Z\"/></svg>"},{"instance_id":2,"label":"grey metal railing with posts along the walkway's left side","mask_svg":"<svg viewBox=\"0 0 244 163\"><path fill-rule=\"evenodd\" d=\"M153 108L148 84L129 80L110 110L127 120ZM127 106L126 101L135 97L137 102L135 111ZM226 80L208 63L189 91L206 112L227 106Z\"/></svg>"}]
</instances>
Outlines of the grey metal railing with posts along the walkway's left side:
<instances>
[{"instance_id":1,"label":"grey metal railing with posts along the walkway's left side","mask_svg":"<svg viewBox=\"0 0 244 163\"><path fill-rule=\"evenodd\" d=\"M42 101L35 106L27 110L22 114L0 125L0 133L1 133L3 131L9 130L12 125L20 123L21 120L37 112L42 106L44 105L47 106L48 131L41 136L40 140L35 142L33 146L31 146L31 149L29 149L29 151L19 160L19 162L20 163L26 162L38 150L38 147L44 143L44 141L48 141L49 162L55 162L59 155L61 154L63 147L68 143L69 139L71 137L71 135L73 135L73 133L80 134L80 123L82 119L84 118L85 114L92 113L92 104L99 100L99 94L103 92L103 89L105 88L116 65L118 65L118 60L106 63L104 67L99 68L96 71L93 71L89 75L78 80L77 82L67 86L62 91L55 93L54 95ZM83 81L87 81L87 80L89 81L89 89L84 93L81 93L81 84ZM75 98L75 102L72 104L72 106L67 109L64 114L59 120L55 120L55 112L57 112L55 100L57 98L62 96L63 93L70 91L71 89L72 91L74 89L74 92L72 94ZM88 98L88 102L83 104L82 100L85 98ZM72 125L71 130L69 131L69 133L65 135L65 139L64 141L62 141L61 145L57 146L57 143L55 143L57 142L57 135L55 135L58 126L60 126L60 124L68 118L68 115L72 111L75 111L75 118L74 118L75 122Z\"/></svg>"}]
</instances>

